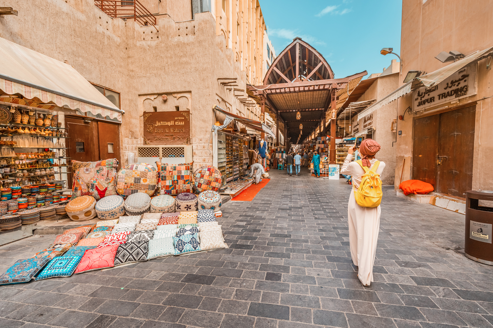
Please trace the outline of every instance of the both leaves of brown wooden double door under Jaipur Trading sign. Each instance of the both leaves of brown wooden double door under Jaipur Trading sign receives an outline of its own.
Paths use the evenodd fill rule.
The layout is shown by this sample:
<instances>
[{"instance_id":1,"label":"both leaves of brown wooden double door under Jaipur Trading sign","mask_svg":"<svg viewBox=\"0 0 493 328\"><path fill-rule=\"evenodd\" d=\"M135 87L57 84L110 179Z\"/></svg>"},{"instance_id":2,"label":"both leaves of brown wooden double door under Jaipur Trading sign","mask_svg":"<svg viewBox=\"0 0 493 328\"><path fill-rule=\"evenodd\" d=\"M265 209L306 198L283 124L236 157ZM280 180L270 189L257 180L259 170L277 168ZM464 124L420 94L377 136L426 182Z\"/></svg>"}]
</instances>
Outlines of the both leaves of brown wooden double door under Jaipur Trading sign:
<instances>
[{"instance_id":1,"label":"both leaves of brown wooden double door under Jaipur Trading sign","mask_svg":"<svg viewBox=\"0 0 493 328\"><path fill-rule=\"evenodd\" d=\"M464 198L472 188L475 119L476 106L416 119L413 179Z\"/></svg>"}]
</instances>

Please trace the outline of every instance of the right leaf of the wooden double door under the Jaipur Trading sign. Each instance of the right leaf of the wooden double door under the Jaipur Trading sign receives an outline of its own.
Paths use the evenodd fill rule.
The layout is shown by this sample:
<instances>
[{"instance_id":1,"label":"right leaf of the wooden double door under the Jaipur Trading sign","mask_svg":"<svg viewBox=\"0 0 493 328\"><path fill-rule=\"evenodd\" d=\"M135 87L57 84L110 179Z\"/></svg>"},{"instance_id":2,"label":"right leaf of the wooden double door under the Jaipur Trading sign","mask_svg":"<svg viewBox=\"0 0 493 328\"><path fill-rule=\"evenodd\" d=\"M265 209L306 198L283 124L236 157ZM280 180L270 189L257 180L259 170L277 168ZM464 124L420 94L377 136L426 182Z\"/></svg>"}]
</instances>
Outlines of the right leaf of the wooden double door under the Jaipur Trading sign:
<instances>
[{"instance_id":1,"label":"right leaf of the wooden double door under the Jaipur Trading sign","mask_svg":"<svg viewBox=\"0 0 493 328\"><path fill-rule=\"evenodd\" d=\"M440 114L435 191L465 198L472 188L476 106Z\"/></svg>"}]
</instances>

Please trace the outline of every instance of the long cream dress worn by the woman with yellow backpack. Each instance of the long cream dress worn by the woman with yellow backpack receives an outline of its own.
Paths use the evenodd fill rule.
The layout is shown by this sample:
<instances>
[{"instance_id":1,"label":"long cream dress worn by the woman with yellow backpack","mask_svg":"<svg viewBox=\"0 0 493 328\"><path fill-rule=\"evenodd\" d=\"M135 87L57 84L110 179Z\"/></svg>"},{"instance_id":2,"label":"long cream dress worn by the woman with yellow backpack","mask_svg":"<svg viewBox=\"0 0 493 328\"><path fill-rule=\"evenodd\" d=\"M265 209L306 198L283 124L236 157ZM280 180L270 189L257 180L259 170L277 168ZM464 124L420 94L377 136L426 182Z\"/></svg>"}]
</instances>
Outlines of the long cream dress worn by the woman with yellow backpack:
<instances>
[{"instance_id":1,"label":"long cream dress worn by the woman with yellow backpack","mask_svg":"<svg viewBox=\"0 0 493 328\"><path fill-rule=\"evenodd\" d=\"M370 160L373 165L377 159ZM377 173L382 175L385 163L380 162ZM365 173L358 163L352 162L352 155L348 154L341 168L341 174L352 176L352 186L359 187L361 176ZM380 206L364 208L354 199L354 190L351 190L348 205L349 221L349 248L352 262L358 267L358 278L365 286L373 281L373 263L377 250L378 230L380 228Z\"/></svg>"}]
</instances>

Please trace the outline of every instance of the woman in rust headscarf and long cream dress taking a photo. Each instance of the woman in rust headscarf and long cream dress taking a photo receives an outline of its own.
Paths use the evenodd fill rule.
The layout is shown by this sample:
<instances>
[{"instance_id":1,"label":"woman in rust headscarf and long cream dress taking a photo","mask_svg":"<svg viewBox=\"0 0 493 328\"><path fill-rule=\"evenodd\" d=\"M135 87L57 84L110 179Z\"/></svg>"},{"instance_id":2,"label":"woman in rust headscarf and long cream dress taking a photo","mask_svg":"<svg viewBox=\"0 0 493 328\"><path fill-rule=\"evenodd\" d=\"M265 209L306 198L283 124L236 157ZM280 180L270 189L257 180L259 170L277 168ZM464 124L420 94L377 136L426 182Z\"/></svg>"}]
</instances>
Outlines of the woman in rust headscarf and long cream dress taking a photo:
<instances>
[{"instance_id":1,"label":"woman in rust headscarf and long cream dress taking a photo","mask_svg":"<svg viewBox=\"0 0 493 328\"><path fill-rule=\"evenodd\" d=\"M377 207L362 207L358 205L356 193L362 183L362 176L367 171L374 171L380 179L385 169L385 163L375 159L375 154L380 150L380 145L372 140L365 139L359 147L361 161L352 162L352 154L356 146L348 150L348 156L344 160L341 174L352 176L352 191L348 204L349 221L349 247L352 262L358 267L358 278L364 286L373 282L373 263L377 250L378 231L380 228L380 205ZM378 181L381 184L381 181ZM366 181L365 181L366 183ZM365 185L365 184L363 184ZM359 198L358 198L359 200ZM380 201L378 202L380 204Z\"/></svg>"}]
</instances>

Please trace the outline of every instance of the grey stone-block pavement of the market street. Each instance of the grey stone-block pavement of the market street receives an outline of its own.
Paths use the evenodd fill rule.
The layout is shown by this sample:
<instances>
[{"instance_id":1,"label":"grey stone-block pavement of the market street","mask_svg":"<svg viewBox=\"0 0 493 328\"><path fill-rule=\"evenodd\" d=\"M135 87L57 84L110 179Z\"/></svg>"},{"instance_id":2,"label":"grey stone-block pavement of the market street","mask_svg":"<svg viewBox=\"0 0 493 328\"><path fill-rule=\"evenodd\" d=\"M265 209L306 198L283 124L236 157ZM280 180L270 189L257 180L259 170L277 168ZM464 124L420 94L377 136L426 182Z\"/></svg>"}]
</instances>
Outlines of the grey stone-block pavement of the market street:
<instances>
[{"instance_id":1,"label":"grey stone-block pavement of the market street","mask_svg":"<svg viewBox=\"0 0 493 328\"><path fill-rule=\"evenodd\" d=\"M375 282L363 287L351 187L270 173L252 202L223 208L229 249L1 286L0 327L493 327L493 268L464 257L463 215L386 188ZM53 238L0 247L0 270Z\"/></svg>"}]
</instances>

